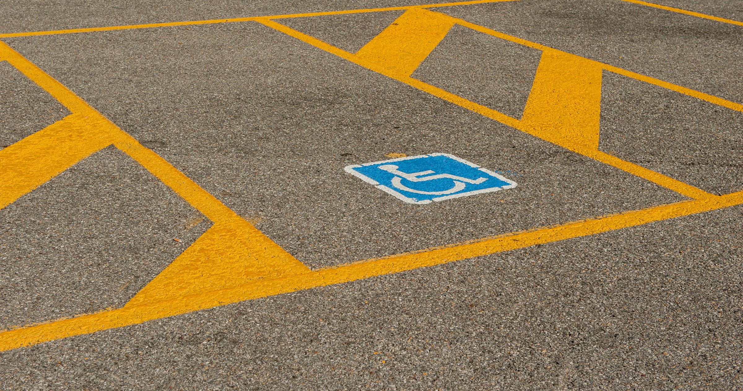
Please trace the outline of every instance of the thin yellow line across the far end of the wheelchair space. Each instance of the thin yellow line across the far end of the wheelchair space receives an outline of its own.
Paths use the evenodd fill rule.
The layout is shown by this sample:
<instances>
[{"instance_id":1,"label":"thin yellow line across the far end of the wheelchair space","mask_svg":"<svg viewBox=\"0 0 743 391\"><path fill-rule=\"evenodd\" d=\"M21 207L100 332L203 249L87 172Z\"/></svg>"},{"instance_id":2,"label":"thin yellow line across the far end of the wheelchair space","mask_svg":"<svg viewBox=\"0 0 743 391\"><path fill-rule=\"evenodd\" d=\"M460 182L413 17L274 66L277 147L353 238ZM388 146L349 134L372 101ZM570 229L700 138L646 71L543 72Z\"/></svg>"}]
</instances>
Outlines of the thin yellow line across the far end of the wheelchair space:
<instances>
[{"instance_id":1,"label":"thin yellow line across the far end of the wheelchair space","mask_svg":"<svg viewBox=\"0 0 743 391\"><path fill-rule=\"evenodd\" d=\"M96 31L132 30L132 29L140 29L140 28L166 28L166 27L175 27L175 26L213 25L215 23L249 22L249 21L253 21L256 19L265 19L265 18L267 19L304 18L308 16L328 16L328 15L343 15L343 14L348 14L348 13L396 11L396 10L409 10L412 8L452 7L455 5L497 3L497 2L505 2L505 1L519 1L519 0L453 1L453 2L448 2L448 3L416 4L416 5L406 5L406 6L401 6L401 7L363 8L359 10L341 10L341 11L326 11L326 12L311 12L311 13L288 13L284 15L249 16L245 18L227 18L227 19L204 19L204 20L184 21L184 22L146 23L143 25L121 25L121 26L108 26L108 27L100 27L100 28L69 28L65 30L28 31L28 32L23 32L23 33L2 33L0 34L0 38L11 38L14 36L42 36L42 35L72 34L72 33L94 33Z\"/></svg>"}]
</instances>

